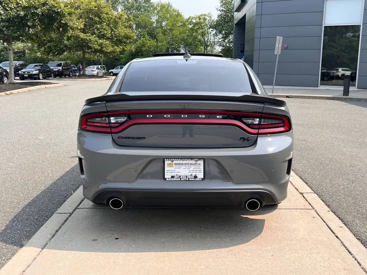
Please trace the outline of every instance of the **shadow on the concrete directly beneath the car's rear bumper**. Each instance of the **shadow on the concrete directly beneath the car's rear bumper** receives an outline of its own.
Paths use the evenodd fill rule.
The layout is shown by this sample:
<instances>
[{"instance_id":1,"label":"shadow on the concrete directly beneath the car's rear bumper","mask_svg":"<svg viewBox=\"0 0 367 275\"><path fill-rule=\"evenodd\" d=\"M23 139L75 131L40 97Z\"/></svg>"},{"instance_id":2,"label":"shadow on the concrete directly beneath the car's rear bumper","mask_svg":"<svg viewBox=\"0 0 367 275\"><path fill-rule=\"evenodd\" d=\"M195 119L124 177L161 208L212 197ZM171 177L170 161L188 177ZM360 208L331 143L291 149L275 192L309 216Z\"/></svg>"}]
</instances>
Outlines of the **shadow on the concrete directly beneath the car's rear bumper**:
<instances>
[{"instance_id":1,"label":"shadow on the concrete directly beneath the car's rear bumper","mask_svg":"<svg viewBox=\"0 0 367 275\"><path fill-rule=\"evenodd\" d=\"M48 250L144 253L230 248L258 237L262 214L245 209L77 209Z\"/></svg>"}]
</instances>

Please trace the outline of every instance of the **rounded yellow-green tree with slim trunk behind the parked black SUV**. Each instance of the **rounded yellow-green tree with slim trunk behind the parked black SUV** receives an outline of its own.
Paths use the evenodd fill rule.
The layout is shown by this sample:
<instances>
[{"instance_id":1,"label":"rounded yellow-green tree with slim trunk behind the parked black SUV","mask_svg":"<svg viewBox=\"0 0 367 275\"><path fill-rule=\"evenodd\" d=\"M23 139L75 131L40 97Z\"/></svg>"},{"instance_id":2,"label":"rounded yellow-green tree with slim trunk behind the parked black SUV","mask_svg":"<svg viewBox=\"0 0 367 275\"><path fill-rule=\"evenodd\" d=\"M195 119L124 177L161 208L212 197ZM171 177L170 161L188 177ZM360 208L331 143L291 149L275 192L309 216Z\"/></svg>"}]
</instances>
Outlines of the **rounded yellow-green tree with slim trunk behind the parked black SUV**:
<instances>
[{"instance_id":1,"label":"rounded yellow-green tree with slim trunk behind the parked black SUV","mask_svg":"<svg viewBox=\"0 0 367 275\"><path fill-rule=\"evenodd\" d=\"M134 38L132 18L101 0L72 0L68 10L70 29L63 45L82 52L83 73L87 53L105 56L126 50Z\"/></svg>"}]
</instances>

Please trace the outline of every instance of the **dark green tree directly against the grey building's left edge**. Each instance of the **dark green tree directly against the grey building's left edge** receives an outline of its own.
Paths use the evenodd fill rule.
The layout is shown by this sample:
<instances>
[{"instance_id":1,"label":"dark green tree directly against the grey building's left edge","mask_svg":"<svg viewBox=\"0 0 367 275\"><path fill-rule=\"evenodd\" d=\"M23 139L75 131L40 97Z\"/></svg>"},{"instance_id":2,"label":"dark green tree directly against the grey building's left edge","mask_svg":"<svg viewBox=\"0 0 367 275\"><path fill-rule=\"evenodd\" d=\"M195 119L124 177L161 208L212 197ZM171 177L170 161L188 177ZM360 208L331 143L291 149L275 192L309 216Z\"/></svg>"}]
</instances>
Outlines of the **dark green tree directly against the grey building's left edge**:
<instances>
[{"instance_id":1,"label":"dark green tree directly against the grey building's left edge","mask_svg":"<svg viewBox=\"0 0 367 275\"><path fill-rule=\"evenodd\" d=\"M232 57L234 30L233 0L220 0L220 6L217 10L219 13L214 28L219 36L219 46L222 47L221 52L223 56Z\"/></svg>"}]
</instances>

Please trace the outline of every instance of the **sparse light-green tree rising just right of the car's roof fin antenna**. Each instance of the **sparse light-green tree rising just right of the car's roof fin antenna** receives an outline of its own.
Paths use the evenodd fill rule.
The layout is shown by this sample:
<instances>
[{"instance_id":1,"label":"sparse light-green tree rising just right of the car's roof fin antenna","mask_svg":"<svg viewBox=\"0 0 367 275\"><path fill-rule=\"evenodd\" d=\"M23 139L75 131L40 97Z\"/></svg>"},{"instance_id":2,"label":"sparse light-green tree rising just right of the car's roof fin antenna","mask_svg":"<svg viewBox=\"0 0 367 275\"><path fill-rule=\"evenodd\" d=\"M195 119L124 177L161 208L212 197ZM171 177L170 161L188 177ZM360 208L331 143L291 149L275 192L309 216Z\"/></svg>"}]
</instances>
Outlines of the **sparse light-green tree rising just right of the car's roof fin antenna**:
<instances>
[{"instance_id":1,"label":"sparse light-green tree rising just right of the car's roof fin antenna","mask_svg":"<svg viewBox=\"0 0 367 275\"><path fill-rule=\"evenodd\" d=\"M213 53L217 47L217 36L214 30L215 20L212 14L190 16L188 19L189 32L206 53Z\"/></svg>"}]
</instances>

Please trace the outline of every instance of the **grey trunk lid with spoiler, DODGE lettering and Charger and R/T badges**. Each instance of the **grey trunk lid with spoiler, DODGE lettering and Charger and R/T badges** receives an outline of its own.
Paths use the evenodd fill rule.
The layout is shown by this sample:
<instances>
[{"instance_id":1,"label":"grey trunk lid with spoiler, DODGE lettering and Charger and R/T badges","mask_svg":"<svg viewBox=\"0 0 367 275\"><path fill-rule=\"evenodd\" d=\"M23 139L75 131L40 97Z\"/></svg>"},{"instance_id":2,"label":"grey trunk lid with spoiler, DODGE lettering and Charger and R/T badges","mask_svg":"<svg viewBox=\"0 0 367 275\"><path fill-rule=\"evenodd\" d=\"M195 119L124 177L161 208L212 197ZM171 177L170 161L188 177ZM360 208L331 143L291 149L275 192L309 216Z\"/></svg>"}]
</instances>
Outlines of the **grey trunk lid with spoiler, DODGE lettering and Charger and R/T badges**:
<instances>
[{"instance_id":1,"label":"grey trunk lid with spoiler, DODGE lettering and Charger and R/T badges","mask_svg":"<svg viewBox=\"0 0 367 275\"><path fill-rule=\"evenodd\" d=\"M86 102L106 102L112 139L119 146L250 147L258 136L258 128L251 124L261 119L265 102L274 103L274 98L255 95L132 94L105 95Z\"/></svg>"}]
</instances>

